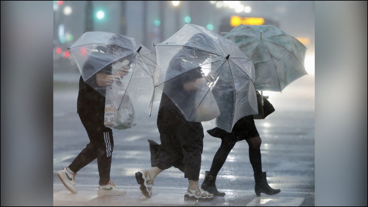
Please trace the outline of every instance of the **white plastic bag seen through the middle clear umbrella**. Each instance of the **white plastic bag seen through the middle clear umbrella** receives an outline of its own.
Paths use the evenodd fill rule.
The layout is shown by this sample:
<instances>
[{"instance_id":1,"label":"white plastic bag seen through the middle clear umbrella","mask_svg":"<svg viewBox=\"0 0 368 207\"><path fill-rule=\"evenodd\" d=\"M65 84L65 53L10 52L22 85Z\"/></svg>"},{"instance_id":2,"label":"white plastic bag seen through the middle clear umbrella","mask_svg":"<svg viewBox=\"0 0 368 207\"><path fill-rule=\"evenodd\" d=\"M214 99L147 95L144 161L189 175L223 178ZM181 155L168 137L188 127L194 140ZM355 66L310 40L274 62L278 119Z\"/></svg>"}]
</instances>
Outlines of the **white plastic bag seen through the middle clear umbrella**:
<instances>
[{"instance_id":1,"label":"white plastic bag seen through the middle clear umbrella","mask_svg":"<svg viewBox=\"0 0 368 207\"><path fill-rule=\"evenodd\" d=\"M198 107L193 115L194 122L207 122L220 115L219 106L209 86L206 84L205 78L201 79L200 86L196 86L198 90L196 91L194 104Z\"/></svg>"}]
</instances>

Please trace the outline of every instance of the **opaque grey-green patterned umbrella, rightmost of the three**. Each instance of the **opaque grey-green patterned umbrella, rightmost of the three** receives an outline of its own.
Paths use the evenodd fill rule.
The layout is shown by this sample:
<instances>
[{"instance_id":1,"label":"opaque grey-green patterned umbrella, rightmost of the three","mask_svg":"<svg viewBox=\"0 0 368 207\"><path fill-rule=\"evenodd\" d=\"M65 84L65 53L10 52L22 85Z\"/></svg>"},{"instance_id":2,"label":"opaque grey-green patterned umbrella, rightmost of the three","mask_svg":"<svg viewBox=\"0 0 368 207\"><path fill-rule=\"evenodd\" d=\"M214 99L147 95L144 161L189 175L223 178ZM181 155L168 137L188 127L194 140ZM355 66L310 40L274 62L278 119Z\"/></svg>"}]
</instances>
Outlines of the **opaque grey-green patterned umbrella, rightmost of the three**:
<instances>
[{"instance_id":1,"label":"opaque grey-green patterned umbrella, rightmost of the three","mask_svg":"<svg viewBox=\"0 0 368 207\"><path fill-rule=\"evenodd\" d=\"M274 25L239 25L224 35L254 63L257 91L279 91L307 74L307 48Z\"/></svg>"}]
</instances>

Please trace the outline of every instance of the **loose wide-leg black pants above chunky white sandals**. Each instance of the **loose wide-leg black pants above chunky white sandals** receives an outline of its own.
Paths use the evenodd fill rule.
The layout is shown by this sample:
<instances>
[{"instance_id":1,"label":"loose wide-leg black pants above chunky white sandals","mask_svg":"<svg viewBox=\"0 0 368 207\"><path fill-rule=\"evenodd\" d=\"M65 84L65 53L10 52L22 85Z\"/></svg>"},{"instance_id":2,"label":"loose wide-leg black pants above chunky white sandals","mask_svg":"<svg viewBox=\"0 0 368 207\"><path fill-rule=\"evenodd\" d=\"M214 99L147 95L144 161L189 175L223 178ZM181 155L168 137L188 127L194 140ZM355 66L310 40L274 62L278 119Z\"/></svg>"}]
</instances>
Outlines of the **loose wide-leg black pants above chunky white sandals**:
<instances>
[{"instance_id":1,"label":"loose wide-leg black pants above chunky white sandals","mask_svg":"<svg viewBox=\"0 0 368 207\"><path fill-rule=\"evenodd\" d=\"M204 137L202 124L188 122L174 103L163 94L157 126L161 144L152 167L168 169L174 166L184 172L184 178L198 181Z\"/></svg>"}]
</instances>

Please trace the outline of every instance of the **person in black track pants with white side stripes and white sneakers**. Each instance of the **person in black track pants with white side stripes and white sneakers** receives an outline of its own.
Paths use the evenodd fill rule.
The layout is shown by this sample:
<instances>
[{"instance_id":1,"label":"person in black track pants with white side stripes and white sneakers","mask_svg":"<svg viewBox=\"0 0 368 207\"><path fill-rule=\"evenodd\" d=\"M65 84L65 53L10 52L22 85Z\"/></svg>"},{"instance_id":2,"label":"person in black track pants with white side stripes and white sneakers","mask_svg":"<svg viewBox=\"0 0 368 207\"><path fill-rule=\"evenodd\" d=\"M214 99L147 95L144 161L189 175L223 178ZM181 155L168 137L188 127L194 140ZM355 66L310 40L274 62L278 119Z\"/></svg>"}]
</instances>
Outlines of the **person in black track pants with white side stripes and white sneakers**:
<instances>
[{"instance_id":1,"label":"person in black track pants with white side stripes and white sneakers","mask_svg":"<svg viewBox=\"0 0 368 207\"><path fill-rule=\"evenodd\" d=\"M107 49L104 46L98 46L85 62L82 72L88 73L88 71L95 70L94 63L102 61L103 59L99 59L99 57L101 54L106 54L106 52ZM114 140L112 129L104 125L104 95L106 93L105 88L111 85L114 80L117 80L119 76L123 76L123 71L127 69L124 68L124 70L112 74L112 64L108 64L88 78L88 84L83 80L82 76L79 78L77 113L87 131L90 142L68 167L57 172L61 182L71 193L78 192L78 189L75 187L75 175L77 175L77 172L96 158L100 176L98 194L121 195L126 193L125 190L118 189L110 179Z\"/></svg>"}]
</instances>

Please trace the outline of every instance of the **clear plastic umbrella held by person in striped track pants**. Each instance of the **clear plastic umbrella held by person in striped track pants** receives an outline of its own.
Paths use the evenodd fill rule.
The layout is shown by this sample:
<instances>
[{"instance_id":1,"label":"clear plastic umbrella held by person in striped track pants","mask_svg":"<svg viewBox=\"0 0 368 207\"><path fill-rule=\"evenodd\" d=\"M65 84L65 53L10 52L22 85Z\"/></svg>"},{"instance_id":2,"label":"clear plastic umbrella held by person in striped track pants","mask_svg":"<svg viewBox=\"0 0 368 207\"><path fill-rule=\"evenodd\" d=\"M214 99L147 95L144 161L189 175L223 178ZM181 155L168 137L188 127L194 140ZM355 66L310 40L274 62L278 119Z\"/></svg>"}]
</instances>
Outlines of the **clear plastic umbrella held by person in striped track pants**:
<instances>
[{"instance_id":1,"label":"clear plastic umbrella held by person in striped track pants","mask_svg":"<svg viewBox=\"0 0 368 207\"><path fill-rule=\"evenodd\" d=\"M116 94L109 90L118 92L112 99L119 107L125 94L129 94L125 97L130 99L127 101L151 115L155 95L153 77L157 68L153 52L133 38L110 32L85 32L70 50L87 84L104 96ZM112 71L104 71L110 64L113 65ZM129 69L124 70L123 76L115 79L113 84L99 86L96 74L112 74L121 67Z\"/></svg>"}]
</instances>

